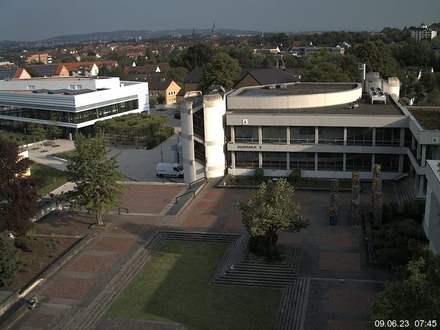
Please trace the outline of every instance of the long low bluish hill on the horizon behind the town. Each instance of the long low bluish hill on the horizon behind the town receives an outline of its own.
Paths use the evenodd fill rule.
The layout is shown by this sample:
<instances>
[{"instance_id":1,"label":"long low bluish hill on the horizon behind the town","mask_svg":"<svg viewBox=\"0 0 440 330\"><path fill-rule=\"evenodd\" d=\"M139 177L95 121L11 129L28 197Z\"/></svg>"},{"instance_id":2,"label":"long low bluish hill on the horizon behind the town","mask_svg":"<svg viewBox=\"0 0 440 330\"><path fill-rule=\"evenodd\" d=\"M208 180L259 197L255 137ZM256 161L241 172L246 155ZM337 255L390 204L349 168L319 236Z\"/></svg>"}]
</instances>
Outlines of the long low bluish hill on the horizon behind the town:
<instances>
[{"instance_id":1,"label":"long low bluish hill on the horizon behind the town","mask_svg":"<svg viewBox=\"0 0 440 330\"><path fill-rule=\"evenodd\" d=\"M195 30L196 34L211 34L210 29ZM233 30L233 29L219 29L217 33L241 35L241 34L257 34L258 31L249 30ZM159 38L161 36L170 36L171 34L190 35L192 29L178 29L178 30L163 30L163 31L149 31L149 30L121 30L113 32L94 32L88 34L71 34L68 36L54 36L43 41L92 41L92 40L106 40L111 41L113 39L134 39L142 36L143 39L147 38Z\"/></svg>"}]
</instances>

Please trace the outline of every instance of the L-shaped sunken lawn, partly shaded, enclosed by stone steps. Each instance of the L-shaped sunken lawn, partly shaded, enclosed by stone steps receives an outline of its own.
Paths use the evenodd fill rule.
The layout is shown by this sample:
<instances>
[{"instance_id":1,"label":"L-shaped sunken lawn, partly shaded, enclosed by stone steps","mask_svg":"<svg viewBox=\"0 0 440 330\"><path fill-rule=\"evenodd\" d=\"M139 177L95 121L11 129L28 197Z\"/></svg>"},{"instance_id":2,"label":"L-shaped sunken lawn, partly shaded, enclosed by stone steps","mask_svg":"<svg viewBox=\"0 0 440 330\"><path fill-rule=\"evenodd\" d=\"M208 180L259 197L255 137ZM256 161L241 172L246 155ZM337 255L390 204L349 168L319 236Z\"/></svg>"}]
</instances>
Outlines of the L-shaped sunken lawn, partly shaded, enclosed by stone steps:
<instances>
[{"instance_id":1,"label":"L-shaped sunken lawn, partly shaded, enclosed by stone steps","mask_svg":"<svg viewBox=\"0 0 440 330\"><path fill-rule=\"evenodd\" d=\"M165 241L107 316L192 330L273 329L283 289L210 284L227 244Z\"/></svg>"}]
</instances>

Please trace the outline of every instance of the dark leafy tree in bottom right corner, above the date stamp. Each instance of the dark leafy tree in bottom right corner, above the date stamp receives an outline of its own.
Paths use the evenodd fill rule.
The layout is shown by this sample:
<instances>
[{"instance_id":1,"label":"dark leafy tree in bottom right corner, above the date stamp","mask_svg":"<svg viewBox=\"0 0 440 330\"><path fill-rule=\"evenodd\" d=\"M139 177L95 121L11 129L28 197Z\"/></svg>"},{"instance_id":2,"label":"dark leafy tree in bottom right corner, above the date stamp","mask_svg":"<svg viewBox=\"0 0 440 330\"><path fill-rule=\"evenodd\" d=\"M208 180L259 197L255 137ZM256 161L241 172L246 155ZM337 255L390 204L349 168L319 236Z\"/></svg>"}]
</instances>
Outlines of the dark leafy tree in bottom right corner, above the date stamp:
<instances>
[{"instance_id":1,"label":"dark leafy tree in bottom right corner, above the date stamp","mask_svg":"<svg viewBox=\"0 0 440 330\"><path fill-rule=\"evenodd\" d=\"M410 261L401 281L388 282L373 305L372 320L415 320L440 318L440 255ZM425 328L423 328L425 329Z\"/></svg>"}]
</instances>

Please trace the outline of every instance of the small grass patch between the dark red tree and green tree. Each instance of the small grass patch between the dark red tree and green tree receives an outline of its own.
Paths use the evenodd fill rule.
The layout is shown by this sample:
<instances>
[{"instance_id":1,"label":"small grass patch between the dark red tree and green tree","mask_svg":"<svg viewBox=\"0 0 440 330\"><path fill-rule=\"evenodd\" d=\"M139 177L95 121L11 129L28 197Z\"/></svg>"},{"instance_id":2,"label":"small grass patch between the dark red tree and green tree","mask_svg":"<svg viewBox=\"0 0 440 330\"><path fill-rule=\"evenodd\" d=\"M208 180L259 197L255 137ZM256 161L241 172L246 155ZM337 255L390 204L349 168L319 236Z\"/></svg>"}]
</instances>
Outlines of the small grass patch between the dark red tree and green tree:
<instances>
[{"instance_id":1,"label":"small grass patch between the dark red tree and green tree","mask_svg":"<svg viewBox=\"0 0 440 330\"><path fill-rule=\"evenodd\" d=\"M41 179L41 183L37 186L37 190L41 197L44 197L52 190L63 186L67 182L67 177L62 170L34 163L31 169L32 177Z\"/></svg>"}]
</instances>

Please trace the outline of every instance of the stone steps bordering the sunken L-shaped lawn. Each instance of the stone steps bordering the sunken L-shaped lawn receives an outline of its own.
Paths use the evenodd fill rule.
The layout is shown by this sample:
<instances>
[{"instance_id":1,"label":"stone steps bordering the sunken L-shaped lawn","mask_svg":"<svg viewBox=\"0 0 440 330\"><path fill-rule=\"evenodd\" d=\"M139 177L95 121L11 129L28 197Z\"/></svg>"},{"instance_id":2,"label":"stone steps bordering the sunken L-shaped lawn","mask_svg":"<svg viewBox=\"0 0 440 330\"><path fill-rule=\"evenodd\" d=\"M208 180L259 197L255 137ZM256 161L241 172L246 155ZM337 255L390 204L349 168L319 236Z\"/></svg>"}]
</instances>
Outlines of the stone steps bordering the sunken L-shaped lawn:
<instances>
[{"instance_id":1,"label":"stone steps bordering the sunken L-shaped lawn","mask_svg":"<svg viewBox=\"0 0 440 330\"><path fill-rule=\"evenodd\" d=\"M165 240L229 243L211 282L285 289L274 329L303 329L310 281L308 278L298 278L302 259L299 248L287 248L287 257L283 263L267 263L263 258L248 253L248 239L239 234L171 230L158 231L151 236L89 306L72 307L54 329L94 329L107 309Z\"/></svg>"}]
</instances>

